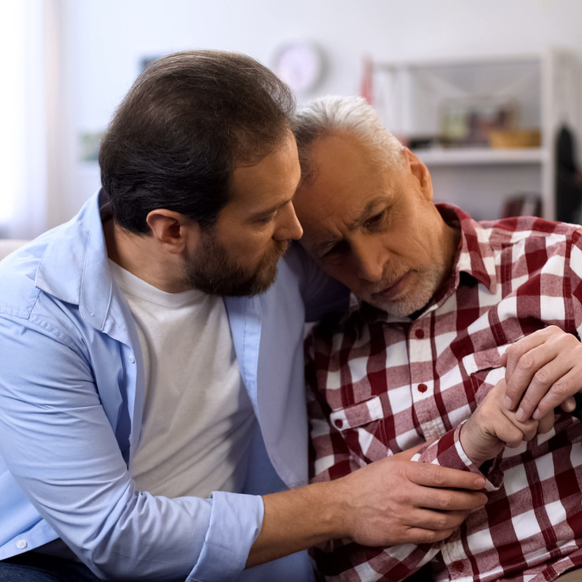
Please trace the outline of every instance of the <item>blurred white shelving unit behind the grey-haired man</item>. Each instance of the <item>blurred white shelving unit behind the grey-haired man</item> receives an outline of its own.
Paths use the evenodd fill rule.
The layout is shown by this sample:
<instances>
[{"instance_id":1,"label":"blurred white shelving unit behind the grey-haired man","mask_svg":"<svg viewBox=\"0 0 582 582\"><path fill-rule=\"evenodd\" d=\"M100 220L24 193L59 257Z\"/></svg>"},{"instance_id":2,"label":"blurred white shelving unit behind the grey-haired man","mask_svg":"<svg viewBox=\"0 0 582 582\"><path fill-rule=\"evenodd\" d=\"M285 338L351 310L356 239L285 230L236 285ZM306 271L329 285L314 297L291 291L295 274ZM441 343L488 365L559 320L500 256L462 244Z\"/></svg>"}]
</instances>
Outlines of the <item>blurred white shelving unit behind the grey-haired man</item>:
<instances>
[{"instance_id":1,"label":"blurred white shelving unit behind the grey-haired man","mask_svg":"<svg viewBox=\"0 0 582 582\"><path fill-rule=\"evenodd\" d=\"M418 149L432 175L435 200L453 202L477 219L500 216L504 201L541 196L555 219L555 136L568 124L580 136L581 73L574 53L544 53L406 62L373 66L374 105L396 136L437 136L446 103L511 103L519 129L539 129L541 147Z\"/></svg>"}]
</instances>

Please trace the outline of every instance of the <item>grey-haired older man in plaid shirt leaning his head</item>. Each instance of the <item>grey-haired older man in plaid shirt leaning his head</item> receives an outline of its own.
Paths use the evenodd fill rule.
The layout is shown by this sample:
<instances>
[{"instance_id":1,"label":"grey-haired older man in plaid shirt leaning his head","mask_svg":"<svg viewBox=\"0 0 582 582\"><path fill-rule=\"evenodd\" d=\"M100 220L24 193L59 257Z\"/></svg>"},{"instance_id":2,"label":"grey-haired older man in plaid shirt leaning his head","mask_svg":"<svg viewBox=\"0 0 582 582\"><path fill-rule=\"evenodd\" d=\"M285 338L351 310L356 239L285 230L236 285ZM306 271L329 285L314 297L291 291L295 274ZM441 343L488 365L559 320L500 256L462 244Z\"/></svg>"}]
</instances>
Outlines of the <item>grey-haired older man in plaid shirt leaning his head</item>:
<instances>
[{"instance_id":1,"label":"grey-haired older man in plaid shirt leaning his head","mask_svg":"<svg viewBox=\"0 0 582 582\"><path fill-rule=\"evenodd\" d=\"M308 342L314 480L427 441L418 460L484 474L489 491L442 543L338 540L316 550L319 569L394 582L430 562L438 580L549 581L580 566L580 422L547 413L582 385L582 228L435 205L425 165L361 99L322 98L296 126L301 243L355 296ZM514 342L508 376L538 370L518 410Z\"/></svg>"}]
</instances>

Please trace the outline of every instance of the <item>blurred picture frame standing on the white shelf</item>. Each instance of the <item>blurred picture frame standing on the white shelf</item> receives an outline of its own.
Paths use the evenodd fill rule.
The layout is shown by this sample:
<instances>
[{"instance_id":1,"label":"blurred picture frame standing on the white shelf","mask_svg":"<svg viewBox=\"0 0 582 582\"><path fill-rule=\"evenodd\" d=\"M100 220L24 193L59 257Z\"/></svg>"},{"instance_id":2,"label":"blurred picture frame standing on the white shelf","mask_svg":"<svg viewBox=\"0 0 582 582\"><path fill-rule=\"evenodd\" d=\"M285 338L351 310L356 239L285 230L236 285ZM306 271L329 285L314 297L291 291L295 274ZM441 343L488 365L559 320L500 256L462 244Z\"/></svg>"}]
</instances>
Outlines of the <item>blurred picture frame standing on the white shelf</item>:
<instances>
[{"instance_id":1,"label":"blurred picture frame standing on the white shelf","mask_svg":"<svg viewBox=\"0 0 582 582\"><path fill-rule=\"evenodd\" d=\"M491 131L515 129L517 103L496 98L443 101L439 110L441 140L449 147L490 145Z\"/></svg>"}]
</instances>

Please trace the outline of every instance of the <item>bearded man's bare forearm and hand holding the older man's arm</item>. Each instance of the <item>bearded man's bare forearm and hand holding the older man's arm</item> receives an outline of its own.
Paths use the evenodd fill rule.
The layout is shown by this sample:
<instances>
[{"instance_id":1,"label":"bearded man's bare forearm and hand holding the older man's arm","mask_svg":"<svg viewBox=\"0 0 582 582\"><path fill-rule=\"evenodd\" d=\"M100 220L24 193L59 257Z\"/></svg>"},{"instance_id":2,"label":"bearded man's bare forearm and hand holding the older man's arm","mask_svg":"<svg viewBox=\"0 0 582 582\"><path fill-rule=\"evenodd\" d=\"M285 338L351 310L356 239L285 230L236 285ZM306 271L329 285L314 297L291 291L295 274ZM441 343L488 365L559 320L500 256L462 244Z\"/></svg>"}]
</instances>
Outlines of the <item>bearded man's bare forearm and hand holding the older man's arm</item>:
<instances>
[{"instance_id":1,"label":"bearded man's bare forearm and hand holding the older man's arm","mask_svg":"<svg viewBox=\"0 0 582 582\"><path fill-rule=\"evenodd\" d=\"M486 503L480 475L409 458L406 451L335 481L264 496L263 526L247 567L331 539L368 546L433 543Z\"/></svg>"}]
</instances>

